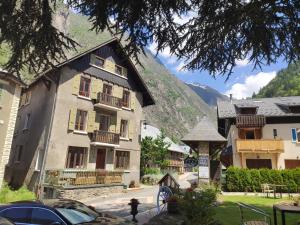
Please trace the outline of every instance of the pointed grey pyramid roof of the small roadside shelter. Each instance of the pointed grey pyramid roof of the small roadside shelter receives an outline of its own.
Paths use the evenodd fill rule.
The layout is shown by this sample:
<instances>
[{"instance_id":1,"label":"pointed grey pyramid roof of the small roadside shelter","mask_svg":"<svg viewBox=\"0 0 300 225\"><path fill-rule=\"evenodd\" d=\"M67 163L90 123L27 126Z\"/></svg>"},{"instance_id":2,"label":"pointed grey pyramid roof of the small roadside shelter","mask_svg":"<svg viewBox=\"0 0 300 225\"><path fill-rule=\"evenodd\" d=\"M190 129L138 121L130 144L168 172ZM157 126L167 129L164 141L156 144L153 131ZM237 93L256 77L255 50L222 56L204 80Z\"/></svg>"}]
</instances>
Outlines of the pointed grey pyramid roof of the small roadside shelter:
<instances>
[{"instance_id":1,"label":"pointed grey pyramid roof of the small roadside shelter","mask_svg":"<svg viewBox=\"0 0 300 225\"><path fill-rule=\"evenodd\" d=\"M218 133L214 124L205 116L181 141L184 143L196 141L226 142L226 139Z\"/></svg>"}]
</instances>

